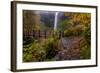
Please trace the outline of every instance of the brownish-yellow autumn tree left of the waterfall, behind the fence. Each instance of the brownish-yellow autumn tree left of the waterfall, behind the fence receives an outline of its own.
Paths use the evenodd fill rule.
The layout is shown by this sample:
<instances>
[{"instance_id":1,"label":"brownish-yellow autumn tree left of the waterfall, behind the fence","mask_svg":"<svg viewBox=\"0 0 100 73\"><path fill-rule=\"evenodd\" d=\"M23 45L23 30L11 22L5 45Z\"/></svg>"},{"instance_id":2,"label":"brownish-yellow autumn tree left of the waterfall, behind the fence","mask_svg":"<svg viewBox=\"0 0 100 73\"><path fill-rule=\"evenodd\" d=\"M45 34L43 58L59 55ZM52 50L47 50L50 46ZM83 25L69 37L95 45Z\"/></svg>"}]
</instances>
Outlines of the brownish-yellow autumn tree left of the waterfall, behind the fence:
<instances>
[{"instance_id":1,"label":"brownish-yellow autumn tree left of the waterfall, behind the fence","mask_svg":"<svg viewBox=\"0 0 100 73\"><path fill-rule=\"evenodd\" d=\"M40 15L38 11L23 11L23 33L32 38L33 30L40 30Z\"/></svg>"}]
</instances>

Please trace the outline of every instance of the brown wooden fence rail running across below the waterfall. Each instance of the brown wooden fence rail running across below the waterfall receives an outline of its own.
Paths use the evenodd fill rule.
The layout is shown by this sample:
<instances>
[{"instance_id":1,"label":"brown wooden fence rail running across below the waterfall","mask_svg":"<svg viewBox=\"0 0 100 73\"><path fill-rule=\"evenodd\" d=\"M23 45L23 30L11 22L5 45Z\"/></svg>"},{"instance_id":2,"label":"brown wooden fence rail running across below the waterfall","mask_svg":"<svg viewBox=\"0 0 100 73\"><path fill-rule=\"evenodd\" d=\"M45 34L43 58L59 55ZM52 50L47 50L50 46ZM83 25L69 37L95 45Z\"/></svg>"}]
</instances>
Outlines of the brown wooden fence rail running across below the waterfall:
<instances>
[{"instance_id":1,"label":"brown wooden fence rail running across below the waterfall","mask_svg":"<svg viewBox=\"0 0 100 73\"><path fill-rule=\"evenodd\" d=\"M59 31L59 32L51 32L51 31L32 31L32 32L27 32L23 34L24 38L47 38L50 35L52 36L58 36L59 38L64 37L64 32L63 31Z\"/></svg>"}]
</instances>

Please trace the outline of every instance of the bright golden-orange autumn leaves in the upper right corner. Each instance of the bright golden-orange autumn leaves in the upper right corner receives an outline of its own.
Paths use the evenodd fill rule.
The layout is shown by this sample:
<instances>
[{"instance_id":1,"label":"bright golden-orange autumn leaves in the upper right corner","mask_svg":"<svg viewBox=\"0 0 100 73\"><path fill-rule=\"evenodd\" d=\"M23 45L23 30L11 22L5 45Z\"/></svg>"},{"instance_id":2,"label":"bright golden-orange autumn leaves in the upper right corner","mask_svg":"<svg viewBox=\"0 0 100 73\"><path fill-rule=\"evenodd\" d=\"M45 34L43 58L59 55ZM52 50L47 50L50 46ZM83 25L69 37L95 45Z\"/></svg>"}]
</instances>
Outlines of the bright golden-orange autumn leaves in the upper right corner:
<instances>
[{"instance_id":1,"label":"bright golden-orange autumn leaves in the upper right corner","mask_svg":"<svg viewBox=\"0 0 100 73\"><path fill-rule=\"evenodd\" d=\"M64 13L65 16L69 17L69 21L72 25L89 25L91 21L91 14L90 13L71 13L66 12Z\"/></svg>"}]
</instances>

